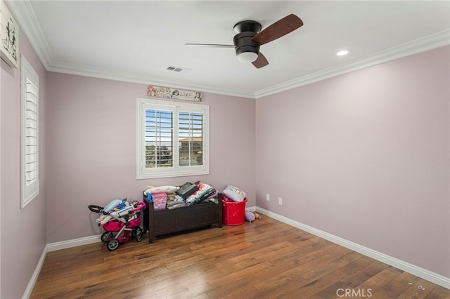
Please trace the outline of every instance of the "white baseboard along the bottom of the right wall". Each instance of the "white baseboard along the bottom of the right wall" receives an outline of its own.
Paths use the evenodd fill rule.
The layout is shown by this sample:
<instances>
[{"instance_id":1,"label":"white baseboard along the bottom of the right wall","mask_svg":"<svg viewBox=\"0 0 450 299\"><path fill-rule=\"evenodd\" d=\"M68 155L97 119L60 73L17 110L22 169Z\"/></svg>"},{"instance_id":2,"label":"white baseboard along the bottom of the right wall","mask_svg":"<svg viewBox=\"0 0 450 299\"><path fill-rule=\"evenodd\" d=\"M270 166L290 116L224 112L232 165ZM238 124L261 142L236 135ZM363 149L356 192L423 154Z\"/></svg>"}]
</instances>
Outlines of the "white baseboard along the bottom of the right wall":
<instances>
[{"instance_id":1,"label":"white baseboard along the bottom of the right wall","mask_svg":"<svg viewBox=\"0 0 450 299\"><path fill-rule=\"evenodd\" d=\"M268 215L271 218L274 218L278 221L284 222L288 225L291 225L293 227L297 227L300 230L304 230L305 232L309 232L311 234L314 234L318 237L321 237L323 239L326 239L328 241L331 241L335 244L339 244L340 246L344 246L345 248L349 248L352 251L356 251L358 253L367 255L370 258L373 258L375 260L379 260L380 262L383 262L387 265L391 265L392 267L396 267L400 270L403 270L405 272L409 272L413 275L416 275L417 277L423 278L425 280L431 281L433 284L437 284L439 286L443 286L444 288L450 289L450 278L444 277L441 274L437 274L435 272L431 272L429 270L423 269L422 267L418 267L416 265L412 265L410 263L405 262L404 260L399 260L398 258L393 258L390 255L386 255L384 253L380 253L378 251L374 251L371 248L367 248L365 246L356 244L352 241L348 241L346 239L342 239L340 237L337 237L333 234L328 234L328 232L323 232L321 230L317 230L314 227L310 227L309 225L304 225L303 223L297 222L295 220L292 220L290 218L286 218L282 215L278 215L276 213L273 213L271 211L267 211L264 208L256 207L256 211L258 213L262 213L264 215Z\"/></svg>"}]
</instances>

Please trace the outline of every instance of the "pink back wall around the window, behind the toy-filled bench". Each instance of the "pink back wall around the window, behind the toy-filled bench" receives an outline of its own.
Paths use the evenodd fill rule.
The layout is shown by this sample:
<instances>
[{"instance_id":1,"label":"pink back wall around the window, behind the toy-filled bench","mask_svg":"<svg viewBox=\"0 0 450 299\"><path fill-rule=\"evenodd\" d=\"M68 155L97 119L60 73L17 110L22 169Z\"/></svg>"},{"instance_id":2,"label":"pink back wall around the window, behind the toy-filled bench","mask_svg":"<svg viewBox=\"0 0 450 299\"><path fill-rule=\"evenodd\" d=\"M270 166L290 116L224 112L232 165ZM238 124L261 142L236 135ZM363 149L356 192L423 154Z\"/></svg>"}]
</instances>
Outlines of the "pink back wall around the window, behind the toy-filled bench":
<instances>
[{"instance_id":1,"label":"pink back wall around the window, behind the toy-filled bench","mask_svg":"<svg viewBox=\"0 0 450 299\"><path fill-rule=\"evenodd\" d=\"M47 243L100 234L87 206L142 199L146 185L232 184L255 206L255 100L204 94L210 175L136 180L136 97L145 85L49 73Z\"/></svg>"}]
</instances>

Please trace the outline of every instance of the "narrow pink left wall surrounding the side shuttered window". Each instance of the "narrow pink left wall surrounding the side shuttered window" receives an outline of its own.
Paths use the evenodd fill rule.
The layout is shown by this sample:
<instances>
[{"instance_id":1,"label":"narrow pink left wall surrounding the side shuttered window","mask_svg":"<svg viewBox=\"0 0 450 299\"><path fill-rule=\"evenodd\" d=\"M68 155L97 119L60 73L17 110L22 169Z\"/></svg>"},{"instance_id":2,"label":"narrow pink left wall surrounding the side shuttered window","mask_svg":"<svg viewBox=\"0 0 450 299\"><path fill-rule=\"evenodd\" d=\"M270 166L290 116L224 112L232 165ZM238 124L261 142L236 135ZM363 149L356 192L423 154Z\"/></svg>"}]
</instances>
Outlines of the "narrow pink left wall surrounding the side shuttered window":
<instances>
[{"instance_id":1,"label":"narrow pink left wall surrounding the side shuttered window","mask_svg":"<svg viewBox=\"0 0 450 299\"><path fill-rule=\"evenodd\" d=\"M39 75L40 193L20 209L20 69L1 62L1 291L0 298L20 298L46 245L46 70L20 32L20 53Z\"/></svg>"}]
</instances>

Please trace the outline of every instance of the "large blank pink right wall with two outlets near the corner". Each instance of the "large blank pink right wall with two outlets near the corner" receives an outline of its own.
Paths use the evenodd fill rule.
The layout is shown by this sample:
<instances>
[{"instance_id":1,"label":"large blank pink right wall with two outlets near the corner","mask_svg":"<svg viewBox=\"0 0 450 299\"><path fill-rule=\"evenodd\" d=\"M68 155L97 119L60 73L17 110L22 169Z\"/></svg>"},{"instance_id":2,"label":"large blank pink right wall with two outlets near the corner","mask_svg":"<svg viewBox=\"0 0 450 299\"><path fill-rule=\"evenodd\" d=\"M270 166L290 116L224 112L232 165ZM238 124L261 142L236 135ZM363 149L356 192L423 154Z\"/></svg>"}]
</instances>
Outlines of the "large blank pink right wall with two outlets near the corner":
<instances>
[{"instance_id":1,"label":"large blank pink right wall with two outlets near the corner","mask_svg":"<svg viewBox=\"0 0 450 299\"><path fill-rule=\"evenodd\" d=\"M449 81L444 47L258 99L257 206L450 277Z\"/></svg>"}]
</instances>

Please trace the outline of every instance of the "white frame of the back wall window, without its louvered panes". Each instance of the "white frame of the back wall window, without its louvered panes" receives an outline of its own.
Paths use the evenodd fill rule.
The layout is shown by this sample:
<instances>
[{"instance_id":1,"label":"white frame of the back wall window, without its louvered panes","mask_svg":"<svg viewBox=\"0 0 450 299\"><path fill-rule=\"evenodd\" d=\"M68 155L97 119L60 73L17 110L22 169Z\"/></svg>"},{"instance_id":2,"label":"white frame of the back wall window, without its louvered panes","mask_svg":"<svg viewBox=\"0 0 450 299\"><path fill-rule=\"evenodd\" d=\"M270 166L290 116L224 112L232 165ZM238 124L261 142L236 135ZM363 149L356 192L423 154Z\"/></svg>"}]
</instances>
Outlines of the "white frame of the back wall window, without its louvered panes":
<instances>
[{"instance_id":1,"label":"white frame of the back wall window, without its louvered panes","mask_svg":"<svg viewBox=\"0 0 450 299\"><path fill-rule=\"evenodd\" d=\"M210 106L153 98L136 98L136 178L172 178L186 175L207 175L210 173ZM173 112L174 131L172 136L172 167L146 168L146 109L169 110ZM179 166L179 112L194 112L203 115L203 164L200 166Z\"/></svg>"}]
</instances>

